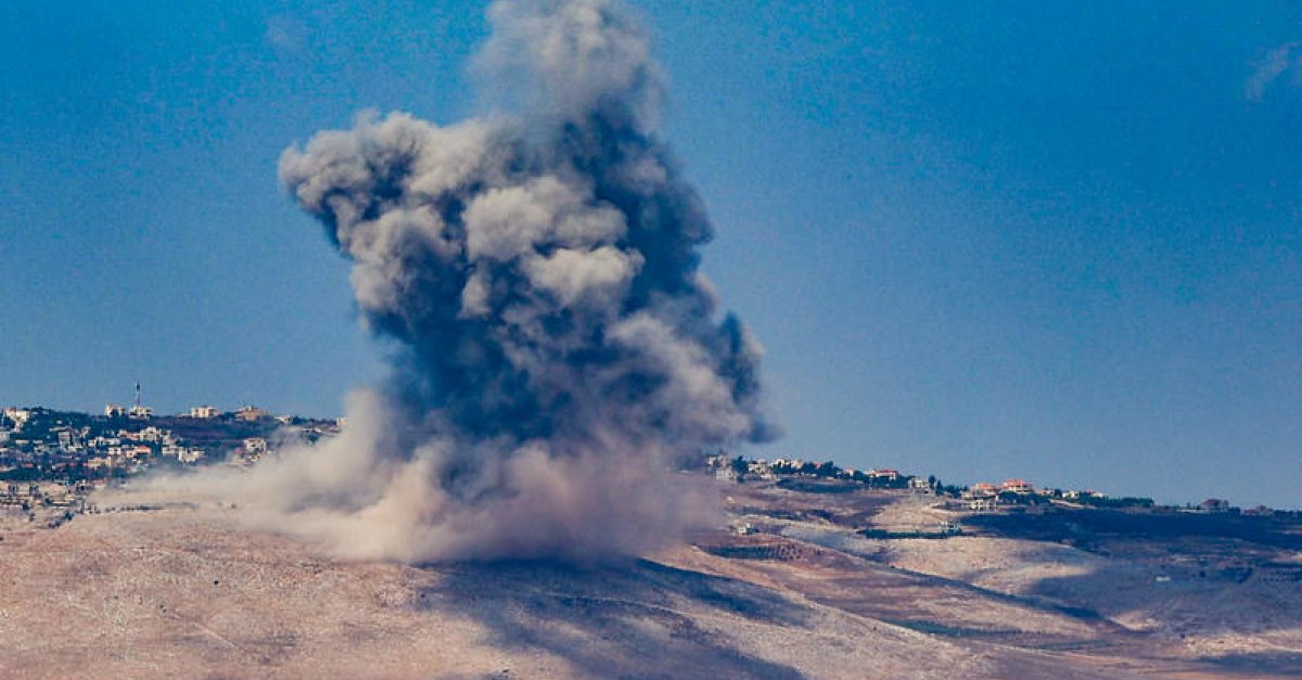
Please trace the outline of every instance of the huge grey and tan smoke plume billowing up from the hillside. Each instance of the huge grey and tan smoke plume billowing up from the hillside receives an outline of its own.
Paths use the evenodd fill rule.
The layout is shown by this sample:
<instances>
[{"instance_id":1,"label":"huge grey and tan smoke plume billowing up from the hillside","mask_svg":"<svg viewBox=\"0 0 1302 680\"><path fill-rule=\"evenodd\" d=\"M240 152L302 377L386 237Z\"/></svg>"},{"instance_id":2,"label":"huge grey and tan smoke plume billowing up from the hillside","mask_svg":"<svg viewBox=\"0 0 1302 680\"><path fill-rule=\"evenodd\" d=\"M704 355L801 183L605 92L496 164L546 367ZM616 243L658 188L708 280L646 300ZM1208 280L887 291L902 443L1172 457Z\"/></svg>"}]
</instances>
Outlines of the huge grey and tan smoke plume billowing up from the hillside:
<instances>
[{"instance_id":1,"label":"huge grey and tan smoke plume billowing up from the hillside","mask_svg":"<svg viewBox=\"0 0 1302 680\"><path fill-rule=\"evenodd\" d=\"M490 18L478 72L525 74L523 113L362 116L280 162L398 352L340 438L237 486L340 555L633 554L697 518L686 456L769 434L759 349L698 271L711 225L658 133L646 34L613 0Z\"/></svg>"}]
</instances>

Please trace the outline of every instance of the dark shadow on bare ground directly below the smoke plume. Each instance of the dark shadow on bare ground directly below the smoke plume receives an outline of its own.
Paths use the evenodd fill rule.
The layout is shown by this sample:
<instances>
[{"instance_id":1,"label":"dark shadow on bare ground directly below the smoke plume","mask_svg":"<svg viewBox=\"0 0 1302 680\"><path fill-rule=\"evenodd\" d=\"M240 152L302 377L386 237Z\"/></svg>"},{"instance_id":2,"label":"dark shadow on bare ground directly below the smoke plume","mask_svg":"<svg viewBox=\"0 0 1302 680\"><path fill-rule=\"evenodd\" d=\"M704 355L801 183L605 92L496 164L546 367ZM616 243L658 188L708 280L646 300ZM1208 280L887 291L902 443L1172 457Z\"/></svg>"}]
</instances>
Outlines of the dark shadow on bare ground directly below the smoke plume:
<instances>
[{"instance_id":1,"label":"dark shadow on bare ground directly below the smoke plume","mask_svg":"<svg viewBox=\"0 0 1302 680\"><path fill-rule=\"evenodd\" d=\"M809 624L807 607L759 586L648 560L591 569L497 561L439 571L441 578L419 593L418 607L461 612L490 632L488 644L553 654L581 676L802 677L698 624L717 615L771 627Z\"/></svg>"}]
</instances>

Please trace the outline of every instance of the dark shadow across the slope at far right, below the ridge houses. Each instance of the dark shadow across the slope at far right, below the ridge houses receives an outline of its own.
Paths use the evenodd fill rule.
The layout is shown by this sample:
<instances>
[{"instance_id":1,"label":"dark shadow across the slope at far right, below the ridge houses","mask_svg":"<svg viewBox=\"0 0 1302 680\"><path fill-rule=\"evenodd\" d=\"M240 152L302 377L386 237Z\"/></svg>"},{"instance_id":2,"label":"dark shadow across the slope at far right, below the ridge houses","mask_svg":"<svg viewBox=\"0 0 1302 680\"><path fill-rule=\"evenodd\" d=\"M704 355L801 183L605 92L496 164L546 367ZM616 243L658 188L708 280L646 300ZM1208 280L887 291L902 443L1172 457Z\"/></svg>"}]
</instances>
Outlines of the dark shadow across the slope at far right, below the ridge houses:
<instances>
[{"instance_id":1,"label":"dark shadow across the slope at far right, below the ridge houses","mask_svg":"<svg viewBox=\"0 0 1302 680\"><path fill-rule=\"evenodd\" d=\"M1104 558L1082 573L1044 576L1022 597L1044 598L1062 608L1101 615L1113 621L1124 611L1146 612L1160 629L1130 632L1126 638L1148 654L1184 662L1212 673L1302 676L1302 654L1243 651L1186 657L1178 650L1186 632L1198 634L1215 625L1242 634L1293 629L1302 617L1266 614L1297 611L1298 593L1289 584L1254 578L1280 551L1302 547L1299 525L1292 518L1206 516L1187 513L1126 513L1072 511L1043 516L975 516L965 524L1005 538L1048 545L1069 542L1077 550ZM1147 559L1138 555L1147 555ZM1052 554L1023 556L1029 564L1056 563ZM962 576L971 580L974 574ZM1245 590L1240 590L1245 589ZM1256 623L1225 620L1217 602L1232 602L1238 614L1260 612ZM1096 611L1096 610L1098 611ZM1108 614L1111 610L1111 614ZM1193 628L1184 629L1184 625ZM1254 628L1254 625L1259 628Z\"/></svg>"}]
</instances>

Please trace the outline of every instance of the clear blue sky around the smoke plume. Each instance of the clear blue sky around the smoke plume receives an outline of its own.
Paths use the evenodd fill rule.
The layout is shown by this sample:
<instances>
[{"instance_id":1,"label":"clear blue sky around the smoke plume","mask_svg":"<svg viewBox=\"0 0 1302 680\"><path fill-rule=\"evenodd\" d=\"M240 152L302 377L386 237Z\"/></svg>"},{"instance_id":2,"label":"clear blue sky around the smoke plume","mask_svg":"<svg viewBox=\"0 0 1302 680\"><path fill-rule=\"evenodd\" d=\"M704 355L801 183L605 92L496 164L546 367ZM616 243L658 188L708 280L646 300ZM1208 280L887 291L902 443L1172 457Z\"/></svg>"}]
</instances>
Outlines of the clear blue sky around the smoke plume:
<instances>
[{"instance_id":1,"label":"clear blue sky around the smoke plume","mask_svg":"<svg viewBox=\"0 0 1302 680\"><path fill-rule=\"evenodd\" d=\"M967 7L970 5L970 7ZM1302 5L639 3L751 455L1302 505ZM483 111L475 3L0 3L0 404L383 375L276 159Z\"/></svg>"}]
</instances>

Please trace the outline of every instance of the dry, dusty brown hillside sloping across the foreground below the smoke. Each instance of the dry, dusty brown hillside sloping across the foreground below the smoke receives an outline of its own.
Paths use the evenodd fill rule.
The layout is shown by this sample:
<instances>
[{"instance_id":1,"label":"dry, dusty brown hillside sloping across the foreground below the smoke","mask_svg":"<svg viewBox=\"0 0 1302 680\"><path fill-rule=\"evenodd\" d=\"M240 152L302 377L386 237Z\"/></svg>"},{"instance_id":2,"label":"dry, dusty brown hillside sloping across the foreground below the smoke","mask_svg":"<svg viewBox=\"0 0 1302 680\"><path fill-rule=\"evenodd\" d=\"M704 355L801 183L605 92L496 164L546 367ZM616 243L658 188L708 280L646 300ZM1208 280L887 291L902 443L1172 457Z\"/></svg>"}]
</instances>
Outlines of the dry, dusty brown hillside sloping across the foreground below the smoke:
<instances>
[{"instance_id":1,"label":"dry, dusty brown hillside sloping across the foreground below the smoke","mask_svg":"<svg viewBox=\"0 0 1302 680\"><path fill-rule=\"evenodd\" d=\"M187 507L10 518L0 675L1302 676L1302 584L1243 571L1295 558L1279 546L868 539L963 517L907 494L720 494L758 533L598 569L337 563Z\"/></svg>"}]
</instances>

